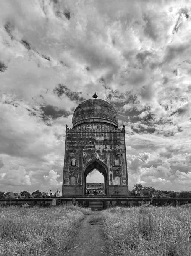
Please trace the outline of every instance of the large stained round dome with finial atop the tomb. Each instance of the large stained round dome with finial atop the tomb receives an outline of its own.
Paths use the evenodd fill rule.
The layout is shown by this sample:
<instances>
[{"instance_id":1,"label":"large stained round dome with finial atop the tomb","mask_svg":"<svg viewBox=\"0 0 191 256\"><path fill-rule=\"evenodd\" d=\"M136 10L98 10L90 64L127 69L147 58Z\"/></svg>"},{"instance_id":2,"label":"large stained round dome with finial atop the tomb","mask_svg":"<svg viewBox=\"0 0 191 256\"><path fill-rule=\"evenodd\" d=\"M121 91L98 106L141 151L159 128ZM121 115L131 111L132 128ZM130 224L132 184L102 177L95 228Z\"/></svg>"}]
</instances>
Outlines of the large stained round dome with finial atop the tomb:
<instances>
[{"instance_id":1,"label":"large stained round dome with finial atop the tomb","mask_svg":"<svg viewBox=\"0 0 191 256\"><path fill-rule=\"evenodd\" d=\"M118 127L117 112L109 102L94 97L80 103L73 114L73 127L87 122L104 122Z\"/></svg>"}]
</instances>

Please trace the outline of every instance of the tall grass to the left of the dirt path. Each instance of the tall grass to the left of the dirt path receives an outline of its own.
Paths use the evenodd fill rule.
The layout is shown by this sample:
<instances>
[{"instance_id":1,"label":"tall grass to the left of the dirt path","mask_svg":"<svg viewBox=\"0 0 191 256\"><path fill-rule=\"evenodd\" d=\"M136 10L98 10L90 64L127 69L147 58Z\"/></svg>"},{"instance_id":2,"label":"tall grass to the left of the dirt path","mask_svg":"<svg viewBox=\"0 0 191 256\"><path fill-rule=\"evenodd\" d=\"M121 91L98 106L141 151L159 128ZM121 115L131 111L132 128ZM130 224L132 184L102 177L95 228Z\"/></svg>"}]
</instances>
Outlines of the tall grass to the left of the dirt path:
<instances>
[{"instance_id":1,"label":"tall grass to the left of the dirt path","mask_svg":"<svg viewBox=\"0 0 191 256\"><path fill-rule=\"evenodd\" d=\"M0 256L63 255L79 222L91 210L0 207Z\"/></svg>"}]
</instances>

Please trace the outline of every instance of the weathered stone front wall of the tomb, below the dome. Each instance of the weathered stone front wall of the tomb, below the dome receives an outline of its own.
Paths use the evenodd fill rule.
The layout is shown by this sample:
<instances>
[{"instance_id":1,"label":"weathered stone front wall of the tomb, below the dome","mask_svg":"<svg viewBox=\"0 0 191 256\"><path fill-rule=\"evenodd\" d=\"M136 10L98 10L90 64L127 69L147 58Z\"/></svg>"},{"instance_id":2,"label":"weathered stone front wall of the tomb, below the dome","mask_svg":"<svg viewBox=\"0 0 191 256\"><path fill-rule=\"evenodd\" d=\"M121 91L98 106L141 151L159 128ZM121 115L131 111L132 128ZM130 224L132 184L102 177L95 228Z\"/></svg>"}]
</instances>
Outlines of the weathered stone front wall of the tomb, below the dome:
<instances>
[{"instance_id":1,"label":"weathered stone front wall of the tomb, below the dome","mask_svg":"<svg viewBox=\"0 0 191 256\"><path fill-rule=\"evenodd\" d=\"M94 130L82 131L66 128L63 195L83 195L84 171L92 159L100 160L107 167L108 195L128 194L124 129L96 131L96 126L97 124L91 123L90 127L94 127ZM105 124L105 129L110 128L107 126ZM76 159L75 166L71 165L73 158ZM117 166L115 159L118 162ZM71 177L76 178L75 185L70 184Z\"/></svg>"}]
</instances>

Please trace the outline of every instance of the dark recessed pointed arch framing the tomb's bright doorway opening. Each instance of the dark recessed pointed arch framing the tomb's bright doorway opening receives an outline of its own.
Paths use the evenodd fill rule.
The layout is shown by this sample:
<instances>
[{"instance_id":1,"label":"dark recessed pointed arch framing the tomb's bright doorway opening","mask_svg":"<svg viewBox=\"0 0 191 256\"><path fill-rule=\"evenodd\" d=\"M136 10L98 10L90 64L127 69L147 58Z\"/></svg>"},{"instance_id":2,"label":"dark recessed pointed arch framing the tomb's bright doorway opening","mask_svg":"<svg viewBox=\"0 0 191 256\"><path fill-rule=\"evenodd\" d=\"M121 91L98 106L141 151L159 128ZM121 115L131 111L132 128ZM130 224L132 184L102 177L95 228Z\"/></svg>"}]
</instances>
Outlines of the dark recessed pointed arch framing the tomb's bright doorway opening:
<instances>
[{"instance_id":1,"label":"dark recessed pointed arch framing the tomb's bright doorway opening","mask_svg":"<svg viewBox=\"0 0 191 256\"><path fill-rule=\"evenodd\" d=\"M86 177L92 172L94 169L97 169L104 176L104 185L105 185L105 194L107 195L108 191L108 171L106 165L101 162L99 159L92 159L85 167L84 167L84 195L86 194Z\"/></svg>"}]
</instances>

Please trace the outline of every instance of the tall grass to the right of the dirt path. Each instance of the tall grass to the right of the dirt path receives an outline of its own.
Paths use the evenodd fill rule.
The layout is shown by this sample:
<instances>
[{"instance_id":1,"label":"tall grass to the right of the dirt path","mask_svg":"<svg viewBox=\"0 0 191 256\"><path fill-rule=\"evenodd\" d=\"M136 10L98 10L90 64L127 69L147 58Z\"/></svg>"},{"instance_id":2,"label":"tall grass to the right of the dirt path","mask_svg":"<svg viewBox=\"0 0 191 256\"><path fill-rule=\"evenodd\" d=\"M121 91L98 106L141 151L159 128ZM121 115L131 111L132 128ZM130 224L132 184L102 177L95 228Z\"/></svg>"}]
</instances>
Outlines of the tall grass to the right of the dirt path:
<instances>
[{"instance_id":1,"label":"tall grass to the right of the dirt path","mask_svg":"<svg viewBox=\"0 0 191 256\"><path fill-rule=\"evenodd\" d=\"M191 255L191 207L116 207L103 224L107 255Z\"/></svg>"}]
</instances>

